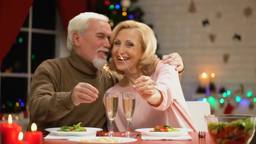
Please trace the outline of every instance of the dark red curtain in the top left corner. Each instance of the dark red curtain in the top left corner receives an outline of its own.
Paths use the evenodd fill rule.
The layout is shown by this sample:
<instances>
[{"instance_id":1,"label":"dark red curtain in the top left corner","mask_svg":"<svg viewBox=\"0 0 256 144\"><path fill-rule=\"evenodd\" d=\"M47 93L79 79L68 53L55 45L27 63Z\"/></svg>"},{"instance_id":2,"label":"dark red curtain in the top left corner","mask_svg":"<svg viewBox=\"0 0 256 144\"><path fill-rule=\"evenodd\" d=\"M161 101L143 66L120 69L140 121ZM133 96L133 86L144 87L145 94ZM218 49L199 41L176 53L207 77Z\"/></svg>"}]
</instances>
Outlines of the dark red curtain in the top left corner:
<instances>
[{"instance_id":1,"label":"dark red curtain in the top left corner","mask_svg":"<svg viewBox=\"0 0 256 144\"><path fill-rule=\"evenodd\" d=\"M19 34L32 3L33 0L0 0L0 65Z\"/></svg>"}]
</instances>

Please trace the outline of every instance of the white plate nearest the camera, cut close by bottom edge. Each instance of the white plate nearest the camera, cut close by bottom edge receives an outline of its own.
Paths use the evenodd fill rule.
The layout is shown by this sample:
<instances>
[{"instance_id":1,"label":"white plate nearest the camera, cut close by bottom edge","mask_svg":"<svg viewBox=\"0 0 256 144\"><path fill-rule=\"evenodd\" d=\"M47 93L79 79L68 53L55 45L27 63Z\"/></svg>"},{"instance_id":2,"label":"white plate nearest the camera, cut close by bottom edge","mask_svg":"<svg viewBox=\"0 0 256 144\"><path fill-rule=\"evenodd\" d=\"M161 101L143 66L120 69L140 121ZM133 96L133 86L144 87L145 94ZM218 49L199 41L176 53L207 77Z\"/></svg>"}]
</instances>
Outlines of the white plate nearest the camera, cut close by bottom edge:
<instances>
[{"instance_id":1,"label":"white plate nearest the camera, cut close by bottom edge","mask_svg":"<svg viewBox=\"0 0 256 144\"><path fill-rule=\"evenodd\" d=\"M81 140L91 140L91 139L100 139L100 138L106 138L106 139L111 139L111 138L115 138L118 141L117 142L90 142L90 141L86 141L86 142L82 142ZM128 143L128 142L134 142L137 141L136 138L130 138L130 137L75 137L75 138L70 138L69 141L75 141L75 142L79 142L79 143Z\"/></svg>"}]
</instances>

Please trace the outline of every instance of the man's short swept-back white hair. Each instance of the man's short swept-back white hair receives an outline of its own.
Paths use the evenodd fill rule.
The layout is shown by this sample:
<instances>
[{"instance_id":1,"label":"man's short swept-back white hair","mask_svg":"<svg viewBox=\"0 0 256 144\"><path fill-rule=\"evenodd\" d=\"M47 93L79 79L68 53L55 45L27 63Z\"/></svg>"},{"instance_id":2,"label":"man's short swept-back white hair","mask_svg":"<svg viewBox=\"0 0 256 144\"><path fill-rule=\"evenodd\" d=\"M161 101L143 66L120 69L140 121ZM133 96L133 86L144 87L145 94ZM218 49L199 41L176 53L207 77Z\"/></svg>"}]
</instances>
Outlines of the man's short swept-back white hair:
<instances>
[{"instance_id":1,"label":"man's short swept-back white hair","mask_svg":"<svg viewBox=\"0 0 256 144\"><path fill-rule=\"evenodd\" d=\"M92 12L80 13L79 15L75 16L72 20L69 21L68 26L67 47L69 51L74 49L74 42L72 37L73 33L77 32L83 35L87 28L87 24L91 19L104 20L107 22L109 20L107 16Z\"/></svg>"}]
</instances>

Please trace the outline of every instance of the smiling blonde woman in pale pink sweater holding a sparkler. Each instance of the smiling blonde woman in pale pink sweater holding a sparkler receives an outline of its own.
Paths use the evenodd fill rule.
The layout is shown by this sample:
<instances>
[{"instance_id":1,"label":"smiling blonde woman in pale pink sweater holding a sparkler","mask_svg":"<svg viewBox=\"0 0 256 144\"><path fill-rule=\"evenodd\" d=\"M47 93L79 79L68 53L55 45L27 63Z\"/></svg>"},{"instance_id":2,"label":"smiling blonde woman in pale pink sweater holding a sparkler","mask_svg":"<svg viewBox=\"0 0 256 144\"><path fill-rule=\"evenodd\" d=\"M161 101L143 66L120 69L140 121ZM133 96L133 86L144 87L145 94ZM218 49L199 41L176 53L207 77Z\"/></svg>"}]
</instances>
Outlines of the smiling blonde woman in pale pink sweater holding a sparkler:
<instances>
[{"instance_id":1,"label":"smiling blonde woman in pale pink sweater holding a sparkler","mask_svg":"<svg viewBox=\"0 0 256 144\"><path fill-rule=\"evenodd\" d=\"M135 92L136 95L131 131L154 128L156 125L192 128L196 131L175 66L165 64L155 55L157 41L153 30L144 23L127 20L113 29L110 43L112 62L119 72L125 74L124 79L107 91L118 92L114 131L127 130L122 108L123 92ZM108 120L108 129L109 126Z\"/></svg>"}]
</instances>

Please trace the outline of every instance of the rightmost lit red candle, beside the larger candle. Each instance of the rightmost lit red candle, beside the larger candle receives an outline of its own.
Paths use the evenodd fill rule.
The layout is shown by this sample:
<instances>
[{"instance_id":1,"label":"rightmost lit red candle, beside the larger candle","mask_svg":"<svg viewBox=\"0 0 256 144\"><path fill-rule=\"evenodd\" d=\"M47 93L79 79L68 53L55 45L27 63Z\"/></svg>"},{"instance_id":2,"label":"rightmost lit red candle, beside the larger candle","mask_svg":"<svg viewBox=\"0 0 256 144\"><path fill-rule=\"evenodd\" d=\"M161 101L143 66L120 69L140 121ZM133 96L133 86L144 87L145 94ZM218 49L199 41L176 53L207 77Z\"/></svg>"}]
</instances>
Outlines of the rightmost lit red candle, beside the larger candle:
<instances>
[{"instance_id":1,"label":"rightmost lit red candle, beside the larger candle","mask_svg":"<svg viewBox=\"0 0 256 144\"><path fill-rule=\"evenodd\" d=\"M43 133L36 131L36 124L31 125L31 131L25 133L25 141L29 144L43 144Z\"/></svg>"}]
</instances>

